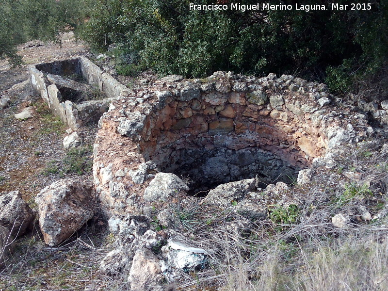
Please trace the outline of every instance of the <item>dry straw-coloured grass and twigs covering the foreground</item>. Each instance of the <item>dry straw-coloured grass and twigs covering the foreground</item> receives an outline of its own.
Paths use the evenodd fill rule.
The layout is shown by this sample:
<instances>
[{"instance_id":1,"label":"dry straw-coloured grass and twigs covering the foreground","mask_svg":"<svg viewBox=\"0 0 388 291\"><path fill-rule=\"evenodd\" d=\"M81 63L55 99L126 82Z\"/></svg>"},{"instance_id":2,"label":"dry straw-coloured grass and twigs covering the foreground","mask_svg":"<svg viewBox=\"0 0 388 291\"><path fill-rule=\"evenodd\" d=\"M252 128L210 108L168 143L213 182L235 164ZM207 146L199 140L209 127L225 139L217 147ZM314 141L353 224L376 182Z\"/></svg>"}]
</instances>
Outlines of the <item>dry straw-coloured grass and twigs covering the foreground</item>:
<instances>
[{"instance_id":1,"label":"dry straw-coloured grass and twigs covering the foreground","mask_svg":"<svg viewBox=\"0 0 388 291\"><path fill-rule=\"evenodd\" d=\"M387 218L366 222L354 216L349 229L331 224L333 215L353 213L357 205L366 206L372 217L386 209L384 142L361 143L339 167L317 172L311 185L290 187L306 197L297 209L252 216L236 212L235 205L210 212L195 199L171 205L175 224L167 229L169 236L211 252L203 268L182 272L173 285L165 282L165 290L388 290ZM360 180L350 182L344 172ZM95 217L78 237L54 248L46 247L35 229L16 241L16 252L0 273L0 290L130 290L128 274L107 276L98 270L112 248L106 225Z\"/></svg>"}]
</instances>

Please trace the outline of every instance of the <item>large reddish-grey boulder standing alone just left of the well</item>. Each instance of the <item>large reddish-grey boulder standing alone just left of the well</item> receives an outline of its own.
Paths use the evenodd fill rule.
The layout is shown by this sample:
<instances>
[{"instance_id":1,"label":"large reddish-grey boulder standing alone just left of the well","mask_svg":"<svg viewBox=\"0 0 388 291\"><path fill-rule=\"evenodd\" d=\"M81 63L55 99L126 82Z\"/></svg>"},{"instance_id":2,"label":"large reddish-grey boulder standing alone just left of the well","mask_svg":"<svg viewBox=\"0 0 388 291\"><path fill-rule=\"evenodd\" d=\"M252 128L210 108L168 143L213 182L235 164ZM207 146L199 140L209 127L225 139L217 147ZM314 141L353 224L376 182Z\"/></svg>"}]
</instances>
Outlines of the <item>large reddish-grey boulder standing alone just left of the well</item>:
<instances>
[{"instance_id":1,"label":"large reddish-grey boulder standing alone just left of the well","mask_svg":"<svg viewBox=\"0 0 388 291\"><path fill-rule=\"evenodd\" d=\"M56 181L39 192L35 202L39 226L49 246L65 241L94 215L92 185L79 180Z\"/></svg>"}]
</instances>

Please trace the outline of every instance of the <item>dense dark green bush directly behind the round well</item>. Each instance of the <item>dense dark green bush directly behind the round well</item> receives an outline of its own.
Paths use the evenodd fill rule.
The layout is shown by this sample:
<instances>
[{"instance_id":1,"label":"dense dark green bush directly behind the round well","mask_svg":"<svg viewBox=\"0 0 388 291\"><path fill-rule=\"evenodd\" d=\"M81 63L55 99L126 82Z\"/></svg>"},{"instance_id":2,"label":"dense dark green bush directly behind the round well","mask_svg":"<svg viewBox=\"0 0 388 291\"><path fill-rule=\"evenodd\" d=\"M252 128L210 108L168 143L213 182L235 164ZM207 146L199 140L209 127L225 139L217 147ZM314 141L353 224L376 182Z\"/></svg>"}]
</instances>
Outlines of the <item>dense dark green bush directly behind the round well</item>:
<instances>
[{"instance_id":1,"label":"dense dark green bush directly behind the round well","mask_svg":"<svg viewBox=\"0 0 388 291\"><path fill-rule=\"evenodd\" d=\"M161 74L299 72L320 81L326 78L340 91L359 76L375 72L387 57L388 7L383 0L373 1L371 10L359 11L332 10L328 0L304 1L329 8L310 12L190 11L190 2L99 0L84 38L97 49L118 44L130 51L132 63Z\"/></svg>"}]
</instances>

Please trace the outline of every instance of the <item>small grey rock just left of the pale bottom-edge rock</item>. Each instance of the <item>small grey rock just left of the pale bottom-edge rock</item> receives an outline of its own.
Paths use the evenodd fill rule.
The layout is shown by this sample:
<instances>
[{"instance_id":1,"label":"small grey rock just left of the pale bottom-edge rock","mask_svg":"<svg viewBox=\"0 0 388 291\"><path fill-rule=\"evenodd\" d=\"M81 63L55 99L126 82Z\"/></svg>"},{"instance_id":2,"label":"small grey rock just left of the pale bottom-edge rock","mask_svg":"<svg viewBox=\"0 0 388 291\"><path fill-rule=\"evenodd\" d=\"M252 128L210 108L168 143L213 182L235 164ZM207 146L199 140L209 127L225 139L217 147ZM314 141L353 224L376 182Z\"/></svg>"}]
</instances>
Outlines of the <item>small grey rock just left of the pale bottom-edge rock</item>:
<instances>
[{"instance_id":1,"label":"small grey rock just left of the pale bottom-edge rock","mask_svg":"<svg viewBox=\"0 0 388 291\"><path fill-rule=\"evenodd\" d=\"M100 263L100 271L107 275L118 275L129 271L130 256L123 248L115 249L108 253Z\"/></svg>"}]
</instances>

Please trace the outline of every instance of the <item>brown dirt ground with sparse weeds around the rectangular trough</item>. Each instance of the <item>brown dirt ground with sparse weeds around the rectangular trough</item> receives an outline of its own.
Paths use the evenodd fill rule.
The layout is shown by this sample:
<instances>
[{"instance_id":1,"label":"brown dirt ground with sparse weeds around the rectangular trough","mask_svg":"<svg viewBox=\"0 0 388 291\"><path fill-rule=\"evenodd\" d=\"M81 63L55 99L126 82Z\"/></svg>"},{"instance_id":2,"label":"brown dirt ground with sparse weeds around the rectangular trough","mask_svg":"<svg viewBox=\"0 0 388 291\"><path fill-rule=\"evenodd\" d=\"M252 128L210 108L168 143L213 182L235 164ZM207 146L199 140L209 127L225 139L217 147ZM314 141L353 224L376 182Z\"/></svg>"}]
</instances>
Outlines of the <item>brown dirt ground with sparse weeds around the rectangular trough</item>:
<instances>
[{"instance_id":1,"label":"brown dirt ground with sparse weeds around the rectangular trough","mask_svg":"<svg viewBox=\"0 0 388 291\"><path fill-rule=\"evenodd\" d=\"M18 190L26 201L32 202L54 180L77 175L60 173L66 155L62 143L67 127L51 114L40 97L33 96L27 82L20 83L28 80L28 65L88 53L88 48L77 42L72 32L67 32L62 37L62 46L39 41L19 46L18 54L24 63L20 67L11 68L6 60L0 62L0 96L11 99L10 106L0 110L0 192ZM33 106L35 116L17 120L14 114L27 106ZM97 126L87 125L80 131L84 145L90 147ZM83 173L81 178L90 179L91 173Z\"/></svg>"}]
</instances>

